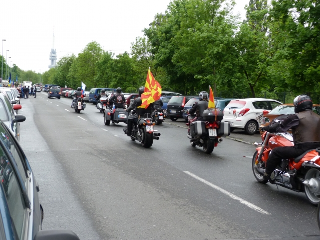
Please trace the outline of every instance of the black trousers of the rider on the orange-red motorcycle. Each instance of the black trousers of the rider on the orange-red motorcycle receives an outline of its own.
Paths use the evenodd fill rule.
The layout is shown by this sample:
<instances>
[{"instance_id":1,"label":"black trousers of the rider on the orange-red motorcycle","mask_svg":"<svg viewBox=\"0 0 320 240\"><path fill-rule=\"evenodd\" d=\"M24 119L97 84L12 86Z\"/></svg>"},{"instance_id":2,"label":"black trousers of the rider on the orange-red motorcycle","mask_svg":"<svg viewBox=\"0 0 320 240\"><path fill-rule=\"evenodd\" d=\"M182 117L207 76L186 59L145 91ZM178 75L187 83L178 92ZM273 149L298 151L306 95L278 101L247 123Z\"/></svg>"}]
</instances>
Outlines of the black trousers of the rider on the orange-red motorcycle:
<instances>
[{"instance_id":1,"label":"black trousers of the rider on the orange-red motorcycle","mask_svg":"<svg viewBox=\"0 0 320 240\"><path fill-rule=\"evenodd\" d=\"M269 155L266 163L265 173L270 175L277 165L281 163L281 159L294 158L300 156L308 149L300 149L297 147L276 147Z\"/></svg>"}]
</instances>

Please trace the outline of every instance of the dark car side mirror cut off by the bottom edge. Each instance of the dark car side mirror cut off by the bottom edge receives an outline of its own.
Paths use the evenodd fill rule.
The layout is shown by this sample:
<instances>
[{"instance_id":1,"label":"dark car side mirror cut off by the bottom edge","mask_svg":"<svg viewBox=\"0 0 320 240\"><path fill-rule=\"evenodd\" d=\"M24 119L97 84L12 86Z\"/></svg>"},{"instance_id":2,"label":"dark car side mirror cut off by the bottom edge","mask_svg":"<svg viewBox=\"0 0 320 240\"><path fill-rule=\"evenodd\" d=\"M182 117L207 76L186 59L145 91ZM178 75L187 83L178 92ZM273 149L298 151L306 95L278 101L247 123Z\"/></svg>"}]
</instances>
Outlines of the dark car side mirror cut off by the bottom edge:
<instances>
[{"instance_id":1,"label":"dark car side mirror cut off by the bottom edge","mask_svg":"<svg viewBox=\"0 0 320 240\"><path fill-rule=\"evenodd\" d=\"M66 229L54 229L54 230L41 230L38 231L34 237L34 240L80 240L76 233Z\"/></svg>"}]
</instances>

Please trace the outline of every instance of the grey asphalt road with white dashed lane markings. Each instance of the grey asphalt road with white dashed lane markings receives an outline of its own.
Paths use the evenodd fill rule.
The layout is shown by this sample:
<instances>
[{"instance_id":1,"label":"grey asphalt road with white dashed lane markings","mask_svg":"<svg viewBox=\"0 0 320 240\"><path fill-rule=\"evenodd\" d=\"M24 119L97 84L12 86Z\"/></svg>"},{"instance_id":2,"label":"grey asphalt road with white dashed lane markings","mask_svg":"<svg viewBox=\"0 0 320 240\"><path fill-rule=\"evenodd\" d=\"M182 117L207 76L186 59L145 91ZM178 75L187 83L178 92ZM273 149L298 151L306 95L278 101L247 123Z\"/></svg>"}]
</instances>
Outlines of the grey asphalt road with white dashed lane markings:
<instances>
[{"instance_id":1,"label":"grey asphalt road with white dashed lane markings","mask_svg":"<svg viewBox=\"0 0 320 240\"><path fill-rule=\"evenodd\" d=\"M19 112L44 229L81 239L320 239L304 193L255 180L253 145L226 138L208 155L166 120L145 149L125 124L105 126L95 105L77 114L71 101L38 93Z\"/></svg>"}]
</instances>

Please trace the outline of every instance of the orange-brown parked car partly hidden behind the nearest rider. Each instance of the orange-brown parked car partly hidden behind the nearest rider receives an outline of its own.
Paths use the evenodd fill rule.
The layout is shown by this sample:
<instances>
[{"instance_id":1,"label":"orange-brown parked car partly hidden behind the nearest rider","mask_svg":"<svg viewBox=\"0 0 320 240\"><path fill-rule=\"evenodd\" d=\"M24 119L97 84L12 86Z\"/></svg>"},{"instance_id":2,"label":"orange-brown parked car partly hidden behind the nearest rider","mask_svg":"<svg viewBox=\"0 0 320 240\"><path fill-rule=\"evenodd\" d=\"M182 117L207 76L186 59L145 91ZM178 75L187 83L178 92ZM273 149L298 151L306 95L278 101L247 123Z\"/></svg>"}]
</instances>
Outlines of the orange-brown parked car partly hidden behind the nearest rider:
<instances>
[{"instance_id":1,"label":"orange-brown parked car partly hidden behind the nearest rider","mask_svg":"<svg viewBox=\"0 0 320 240\"><path fill-rule=\"evenodd\" d=\"M315 112L317 115L320 115L320 105L319 104L313 104L312 111ZM272 109L270 112L263 112L263 116L261 119L261 125L259 127L260 134L262 135L263 132L261 132L261 128L268 126L272 120L280 115L286 115L286 114L294 114L294 105L292 103L286 103L279 105ZM291 131L288 131L291 133Z\"/></svg>"}]
</instances>

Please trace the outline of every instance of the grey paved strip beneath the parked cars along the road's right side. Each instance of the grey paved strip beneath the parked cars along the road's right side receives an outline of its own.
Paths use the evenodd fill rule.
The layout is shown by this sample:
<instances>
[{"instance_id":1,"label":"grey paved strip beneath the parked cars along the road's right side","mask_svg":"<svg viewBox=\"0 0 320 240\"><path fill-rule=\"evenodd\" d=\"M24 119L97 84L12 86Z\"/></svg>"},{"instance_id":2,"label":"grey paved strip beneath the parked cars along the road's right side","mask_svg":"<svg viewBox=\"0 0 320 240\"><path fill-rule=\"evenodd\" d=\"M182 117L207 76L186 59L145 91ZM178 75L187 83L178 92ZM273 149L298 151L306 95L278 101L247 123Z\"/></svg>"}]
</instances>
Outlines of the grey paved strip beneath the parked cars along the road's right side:
<instances>
[{"instance_id":1,"label":"grey paved strip beneath the parked cars along the road's right side","mask_svg":"<svg viewBox=\"0 0 320 240\"><path fill-rule=\"evenodd\" d=\"M171 121L170 118L166 118L166 120L163 123L188 129L188 126L186 126L186 122L183 118L179 118L177 121ZM230 133L230 136L227 136L227 138L233 139L235 141L244 142L247 144L253 144L254 142L262 142L259 133L256 133L254 135L248 135L242 129L235 129L233 132Z\"/></svg>"}]
</instances>

